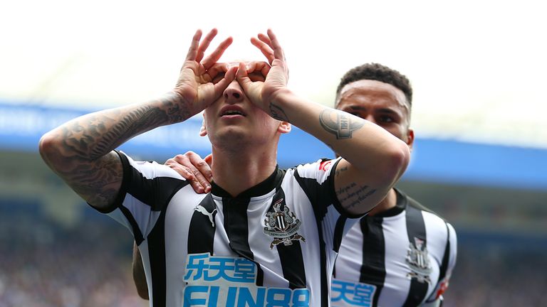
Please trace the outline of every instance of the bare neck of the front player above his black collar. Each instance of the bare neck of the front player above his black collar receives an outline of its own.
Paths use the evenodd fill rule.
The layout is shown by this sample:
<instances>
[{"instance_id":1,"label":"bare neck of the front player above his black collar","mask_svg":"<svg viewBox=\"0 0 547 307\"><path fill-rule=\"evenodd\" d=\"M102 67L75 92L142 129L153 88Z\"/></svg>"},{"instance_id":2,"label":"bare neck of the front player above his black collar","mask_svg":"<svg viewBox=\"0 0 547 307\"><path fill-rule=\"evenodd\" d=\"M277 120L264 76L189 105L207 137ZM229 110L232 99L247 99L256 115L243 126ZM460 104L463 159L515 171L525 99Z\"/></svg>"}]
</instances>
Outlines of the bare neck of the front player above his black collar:
<instances>
[{"instance_id":1,"label":"bare neck of the front player above his black collar","mask_svg":"<svg viewBox=\"0 0 547 307\"><path fill-rule=\"evenodd\" d=\"M213 146L213 181L230 195L239 195L273 173L277 165L276 152L269 148L226 151Z\"/></svg>"}]
</instances>

